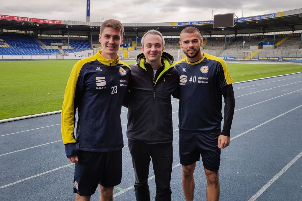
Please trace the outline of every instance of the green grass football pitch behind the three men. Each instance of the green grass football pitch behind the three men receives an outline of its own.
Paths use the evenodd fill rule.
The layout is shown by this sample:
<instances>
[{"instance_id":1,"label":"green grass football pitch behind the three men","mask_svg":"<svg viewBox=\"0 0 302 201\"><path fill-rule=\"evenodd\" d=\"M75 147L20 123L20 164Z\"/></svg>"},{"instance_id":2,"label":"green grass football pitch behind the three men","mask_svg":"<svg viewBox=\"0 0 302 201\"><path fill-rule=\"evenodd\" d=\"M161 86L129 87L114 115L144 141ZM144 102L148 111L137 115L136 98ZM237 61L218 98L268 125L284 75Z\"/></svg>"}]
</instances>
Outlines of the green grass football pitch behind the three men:
<instances>
[{"instance_id":1,"label":"green grass football pitch behind the three men","mask_svg":"<svg viewBox=\"0 0 302 201\"><path fill-rule=\"evenodd\" d=\"M0 119L61 110L66 83L76 62L0 61ZM302 72L302 65L294 64L227 66L234 82Z\"/></svg>"}]
</instances>

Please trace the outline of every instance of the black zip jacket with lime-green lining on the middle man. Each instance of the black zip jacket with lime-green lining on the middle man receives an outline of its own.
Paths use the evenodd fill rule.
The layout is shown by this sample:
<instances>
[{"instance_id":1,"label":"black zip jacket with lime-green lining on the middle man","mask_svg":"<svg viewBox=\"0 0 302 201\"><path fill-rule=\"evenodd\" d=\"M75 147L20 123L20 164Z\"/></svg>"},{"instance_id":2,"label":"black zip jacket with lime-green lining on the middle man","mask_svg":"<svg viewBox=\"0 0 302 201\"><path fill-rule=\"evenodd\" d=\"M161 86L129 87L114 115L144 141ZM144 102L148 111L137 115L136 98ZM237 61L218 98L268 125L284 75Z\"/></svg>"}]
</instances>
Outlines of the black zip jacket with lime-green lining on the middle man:
<instances>
[{"instance_id":1,"label":"black zip jacket with lime-green lining on the middle man","mask_svg":"<svg viewBox=\"0 0 302 201\"><path fill-rule=\"evenodd\" d=\"M179 76L172 66L174 58L162 53L162 66L153 79L153 68L144 54L130 65L131 78L127 98L127 137L150 142L173 140L171 95L179 95Z\"/></svg>"}]
</instances>

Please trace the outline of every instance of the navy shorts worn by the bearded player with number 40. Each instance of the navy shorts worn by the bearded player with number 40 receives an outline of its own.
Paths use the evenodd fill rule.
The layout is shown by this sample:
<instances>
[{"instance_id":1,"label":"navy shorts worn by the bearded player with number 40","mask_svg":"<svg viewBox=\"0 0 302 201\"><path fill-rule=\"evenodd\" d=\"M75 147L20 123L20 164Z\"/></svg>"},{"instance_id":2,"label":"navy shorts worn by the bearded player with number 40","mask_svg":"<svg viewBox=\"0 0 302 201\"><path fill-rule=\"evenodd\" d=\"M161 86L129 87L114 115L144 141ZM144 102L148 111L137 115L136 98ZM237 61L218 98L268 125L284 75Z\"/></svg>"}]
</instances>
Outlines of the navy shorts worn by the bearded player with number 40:
<instances>
[{"instance_id":1,"label":"navy shorts worn by the bearded player with number 40","mask_svg":"<svg viewBox=\"0 0 302 201\"><path fill-rule=\"evenodd\" d=\"M182 165L191 165L199 161L200 155L204 168L210 171L219 170L220 149L218 137L220 129L207 133L192 133L179 129L179 159Z\"/></svg>"}]
</instances>

